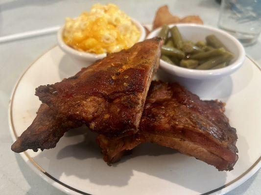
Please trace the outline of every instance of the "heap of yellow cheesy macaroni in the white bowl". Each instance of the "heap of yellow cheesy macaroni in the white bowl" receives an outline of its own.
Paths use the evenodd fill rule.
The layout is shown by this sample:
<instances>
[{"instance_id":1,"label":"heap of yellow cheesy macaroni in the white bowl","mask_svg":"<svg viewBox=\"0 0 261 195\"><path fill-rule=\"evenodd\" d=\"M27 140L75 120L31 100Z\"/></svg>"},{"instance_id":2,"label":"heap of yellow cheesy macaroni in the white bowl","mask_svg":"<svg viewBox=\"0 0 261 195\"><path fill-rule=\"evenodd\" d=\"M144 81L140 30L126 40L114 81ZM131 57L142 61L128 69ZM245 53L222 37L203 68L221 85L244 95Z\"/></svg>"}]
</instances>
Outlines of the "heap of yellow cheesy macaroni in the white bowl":
<instances>
[{"instance_id":1,"label":"heap of yellow cheesy macaroni in the white bowl","mask_svg":"<svg viewBox=\"0 0 261 195\"><path fill-rule=\"evenodd\" d=\"M63 39L79 51L113 53L132 47L141 32L131 19L114 4L92 6L78 18L66 18Z\"/></svg>"}]
</instances>

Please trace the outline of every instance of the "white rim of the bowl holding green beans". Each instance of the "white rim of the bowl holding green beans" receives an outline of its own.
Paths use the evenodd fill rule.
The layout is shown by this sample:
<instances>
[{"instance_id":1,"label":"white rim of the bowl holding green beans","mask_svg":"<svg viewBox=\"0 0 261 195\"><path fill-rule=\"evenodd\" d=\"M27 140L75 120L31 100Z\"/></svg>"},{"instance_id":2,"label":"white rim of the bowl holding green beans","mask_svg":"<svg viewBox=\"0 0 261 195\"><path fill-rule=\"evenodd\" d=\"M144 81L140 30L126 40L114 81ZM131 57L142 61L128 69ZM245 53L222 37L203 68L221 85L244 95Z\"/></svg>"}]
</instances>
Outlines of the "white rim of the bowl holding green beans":
<instances>
[{"instance_id":1,"label":"white rim of the bowl holding green beans","mask_svg":"<svg viewBox=\"0 0 261 195\"><path fill-rule=\"evenodd\" d=\"M232 35L228 34L227 32L220 30L218 28L208 26L208 25L201 25L201 24L192 24L192 23L178 23L178 24L168 24L169 27L172 27L176 25L177 27L197 27L197 28L202 28L202 29L208 29L213 32L216 32L217 34L221 34L225 37L228 37L229 39L232 40L234 43L235 47L237 47L238 50L238 57L235 59L233 63L230 65L224 67L224 68L219 68L219 69L213 69L213 70L196 70L196 69L188 69L188 68L183 68L180 66L173 66L172 64L167 63L164 60L160 60L160 65L162 68L167 70L168 72L175 72L174 74L177 76L185 77L185 78L210 78L212 76L225 76L229 75L232 72L236 71L243 63L245 59L245 50L243 45ZM161 29L161 27L154 29L153 31L150 32L150 34L147 36L147 39L151 39L155 37L156 33Z\"/></svg>"}]
</instances>

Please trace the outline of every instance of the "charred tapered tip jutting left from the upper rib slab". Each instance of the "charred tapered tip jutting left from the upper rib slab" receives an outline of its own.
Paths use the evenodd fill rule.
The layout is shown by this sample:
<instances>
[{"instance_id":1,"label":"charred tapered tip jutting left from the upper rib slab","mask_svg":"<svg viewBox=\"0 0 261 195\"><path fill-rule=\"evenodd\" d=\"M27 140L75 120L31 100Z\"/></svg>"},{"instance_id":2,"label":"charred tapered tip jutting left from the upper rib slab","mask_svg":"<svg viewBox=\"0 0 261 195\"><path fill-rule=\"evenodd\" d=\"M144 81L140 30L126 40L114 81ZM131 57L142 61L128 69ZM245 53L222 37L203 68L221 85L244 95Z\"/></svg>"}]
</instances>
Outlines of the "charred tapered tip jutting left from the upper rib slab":
<instances>
[{"instance_id":1,"label":"charred tapered tip jutting left from the upper rib slab","mask_svg":"<svg viewBox=\"0 0 261 195\"><path fill-rule=\"evenodd\" d=\"M11 149L21 153L27 149L36 152L38 149L54 148L66 131L79 126L81 122L59 118L47 104L41 104L32 124L18 137Z\"/></svg>"}]
</instances>

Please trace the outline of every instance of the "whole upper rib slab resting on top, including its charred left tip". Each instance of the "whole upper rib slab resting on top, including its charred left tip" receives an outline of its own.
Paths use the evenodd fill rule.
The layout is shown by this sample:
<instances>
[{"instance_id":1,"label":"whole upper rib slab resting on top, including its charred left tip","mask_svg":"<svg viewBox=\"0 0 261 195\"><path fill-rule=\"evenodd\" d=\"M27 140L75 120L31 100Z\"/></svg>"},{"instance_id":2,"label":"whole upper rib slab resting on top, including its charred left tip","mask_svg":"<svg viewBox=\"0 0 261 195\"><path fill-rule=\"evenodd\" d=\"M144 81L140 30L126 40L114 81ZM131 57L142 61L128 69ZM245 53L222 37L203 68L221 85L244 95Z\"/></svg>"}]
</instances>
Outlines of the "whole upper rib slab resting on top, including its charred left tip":
<instances>
[{"instance_id":1,"label":"whole upper rib slab resting on top, including its charred left tip","mask_svg":"<svg viewBox=\"0 0 261 195\"><path fill-rule=\"evenodd\" d=\"M41 104L11 149L20 153L54 148L66 131L83 123L104 134L137 131L161 45L158 38L145 40L108 55L74 77L37 88L36 94L49 106Z\"/></svg>"}]
</instances>

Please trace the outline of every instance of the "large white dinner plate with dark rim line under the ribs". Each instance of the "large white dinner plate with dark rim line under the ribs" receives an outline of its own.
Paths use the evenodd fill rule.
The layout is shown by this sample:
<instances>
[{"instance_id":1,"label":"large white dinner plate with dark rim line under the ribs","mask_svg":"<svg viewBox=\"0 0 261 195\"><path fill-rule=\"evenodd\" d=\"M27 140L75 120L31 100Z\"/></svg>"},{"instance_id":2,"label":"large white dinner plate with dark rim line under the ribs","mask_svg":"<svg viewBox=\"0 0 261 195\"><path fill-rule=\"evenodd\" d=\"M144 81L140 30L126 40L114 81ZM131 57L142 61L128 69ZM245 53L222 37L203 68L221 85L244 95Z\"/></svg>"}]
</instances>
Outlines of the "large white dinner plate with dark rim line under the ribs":
<instances>
[{"instance_id":1,"label":"large white dinner plate with dark rim line under the ribs","mask_svg":"<svg viewBox=\"0 0 261 195\"><path fill-rule=\"evenodd\" d=\"M10 130L15 141L31 124L40 105L39 85L73 76L84 63L58 46L24 72L10 101ZM173 77L164 72L158 76ZM163 77L162 77L163 76ZM66 133L54 149L28 150L24 161L42 178L69 195L221 195L261 167L261 70L249 58L233 75L213 82L181 80L202 99L226 102L226 115L237 129L238 161L231 172L218 172L194 157L153 144L142 144L113 166L102 159L95 135L83 129Z\"/></svg>"}]
</instances>

